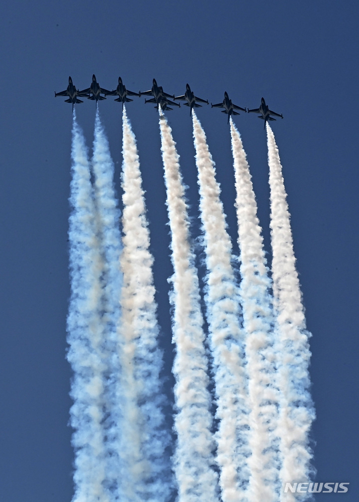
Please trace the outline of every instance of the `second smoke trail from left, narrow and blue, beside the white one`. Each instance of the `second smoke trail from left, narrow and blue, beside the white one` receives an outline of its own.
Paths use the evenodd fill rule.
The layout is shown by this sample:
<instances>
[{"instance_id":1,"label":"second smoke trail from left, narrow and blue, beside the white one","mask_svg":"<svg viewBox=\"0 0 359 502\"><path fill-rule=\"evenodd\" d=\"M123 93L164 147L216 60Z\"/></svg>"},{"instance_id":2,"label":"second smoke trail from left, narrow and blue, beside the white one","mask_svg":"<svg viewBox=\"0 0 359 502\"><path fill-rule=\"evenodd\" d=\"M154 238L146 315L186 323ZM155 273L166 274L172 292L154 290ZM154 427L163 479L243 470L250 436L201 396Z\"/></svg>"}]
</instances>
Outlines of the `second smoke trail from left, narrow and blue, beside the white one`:
<instances>
[{"instance_id":1,"label":"second smoke trail from left, narrow and blue, beside the white one","mask_svg":"<svg viewBox=\"0 0 359 502\"><path fill-rule=\"evenodd\" d=\"M100 279L102 350L107 364L104 374L104 417L102 421L107 456L105 483L112 497L114 497L116 487L120 482L118 480L118 454L116 451L117 436L118 428L123 422L120 411L121 402L119 396L116 395L121 373L118 359L121 343L117 339L117 326L120 320L119 300L122 286L119 263L121 252L120 211L117 209L113 184L114 165L98 110L95 119L92 170L94 176L96 231L103 259Z\"/></svg>"}]
</instances>

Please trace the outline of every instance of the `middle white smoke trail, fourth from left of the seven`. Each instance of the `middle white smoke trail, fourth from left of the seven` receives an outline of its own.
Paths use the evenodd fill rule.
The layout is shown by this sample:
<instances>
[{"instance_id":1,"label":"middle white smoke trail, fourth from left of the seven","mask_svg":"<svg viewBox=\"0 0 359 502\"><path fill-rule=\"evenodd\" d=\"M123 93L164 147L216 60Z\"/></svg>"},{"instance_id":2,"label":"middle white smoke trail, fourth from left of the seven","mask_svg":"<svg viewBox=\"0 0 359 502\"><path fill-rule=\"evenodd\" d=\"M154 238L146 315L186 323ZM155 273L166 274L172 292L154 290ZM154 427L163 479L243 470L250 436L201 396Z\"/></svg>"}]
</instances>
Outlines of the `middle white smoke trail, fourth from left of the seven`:
<instances>
[{"instance_id":1,"label":"middle white smoke trail, fourth from left of the seven","mask_svg":"<svg viewBox=\"0 0 359 502\"><path fill-rule=\"evenodd\" d=\"M214 441L198 277L190 246L179 157L167 120L161 110L159 114L174 269L170 301L176 344L173 373L176 379L174 428L177 444L173 467L178 483L178 502L216 502L219 497L217 474L211 467L214 464Z\"/></svg>"}]
</instances>

